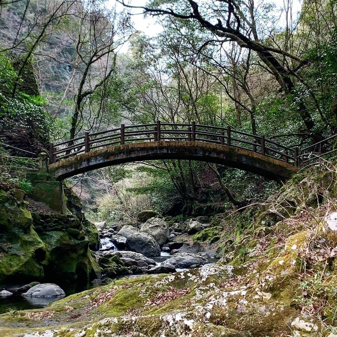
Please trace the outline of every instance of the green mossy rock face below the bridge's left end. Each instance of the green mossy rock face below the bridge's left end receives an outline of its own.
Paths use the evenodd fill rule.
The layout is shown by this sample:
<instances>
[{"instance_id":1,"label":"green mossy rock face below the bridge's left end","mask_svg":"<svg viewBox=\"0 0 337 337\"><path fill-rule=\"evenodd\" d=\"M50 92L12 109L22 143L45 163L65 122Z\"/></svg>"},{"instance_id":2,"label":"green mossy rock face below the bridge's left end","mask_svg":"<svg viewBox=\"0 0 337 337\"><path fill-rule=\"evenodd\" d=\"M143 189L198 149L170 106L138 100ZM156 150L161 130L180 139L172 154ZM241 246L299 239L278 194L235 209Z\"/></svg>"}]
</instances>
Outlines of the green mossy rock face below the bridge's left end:
<instances>
[{"instance_id":1,"label":"green mossy rock face below the bridge's left end","mask_svg":"<svg viewBox=\"0 0 337 337\"><path fill-rule=\"evenodd\" d=\"M89 248L97 247L97 229L75 215L31 213L23 198L21 190L0 191L0 285L97 278Z\"/></svg>"}]
</instances>

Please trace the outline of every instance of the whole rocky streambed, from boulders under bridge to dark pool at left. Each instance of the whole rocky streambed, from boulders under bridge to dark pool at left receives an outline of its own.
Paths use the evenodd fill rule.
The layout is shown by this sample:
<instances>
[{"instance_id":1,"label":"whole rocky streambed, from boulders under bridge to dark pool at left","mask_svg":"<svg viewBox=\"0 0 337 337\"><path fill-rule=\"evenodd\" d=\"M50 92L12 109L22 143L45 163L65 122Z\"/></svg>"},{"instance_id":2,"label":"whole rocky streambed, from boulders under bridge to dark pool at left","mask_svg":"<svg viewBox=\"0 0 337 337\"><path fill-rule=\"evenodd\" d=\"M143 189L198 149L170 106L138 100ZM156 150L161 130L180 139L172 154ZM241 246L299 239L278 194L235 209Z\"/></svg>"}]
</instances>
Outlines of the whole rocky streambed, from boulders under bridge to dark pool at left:
<instances>
[{"instance_id":1,"label":"whole rocky streambed, from boulders under bridge to dark pool at left","mask_svg":"<svg viewBox=\"0 0 337 337\"><path fill-rule=\"evenodd\" d=\"M149 218L149 216L155 215ZM139 277L144 274L170 274L198 268L217 261L215 252L200 244L193 244L192 236L198 231L210 227L208 223L189 219L183 223L174 223L162 219L153 211L144 211L137 223L108 225L96 223L100 238L100 249L92 251L101 270L100 278L93 282L68 286L47 284L51 289L60 291L34 296L25 296L30 288L43 288L45 284L32 282L26 285L11 286L0 292L0 313L43 308L52 302L76 292L108 284L114 279ZM64 291L63 291L64 290Z\"/></svg>"}]
</instances>

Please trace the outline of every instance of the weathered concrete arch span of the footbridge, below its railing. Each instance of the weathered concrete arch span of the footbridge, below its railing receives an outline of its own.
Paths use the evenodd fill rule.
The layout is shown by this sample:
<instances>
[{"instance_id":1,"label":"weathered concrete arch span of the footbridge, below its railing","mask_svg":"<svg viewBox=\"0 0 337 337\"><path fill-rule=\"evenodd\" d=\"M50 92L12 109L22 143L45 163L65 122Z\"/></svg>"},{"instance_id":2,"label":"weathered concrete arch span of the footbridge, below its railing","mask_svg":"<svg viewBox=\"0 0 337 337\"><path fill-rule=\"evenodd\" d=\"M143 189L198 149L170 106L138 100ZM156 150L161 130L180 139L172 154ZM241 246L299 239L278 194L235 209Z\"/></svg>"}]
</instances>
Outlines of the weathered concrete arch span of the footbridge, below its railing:
<instances>
[{"instance_id":1,"label":"weathered concrete arch span of the footbridge, below its railing","mask_svg":"<svg viewBox=\"0 0 337 337\"><path fill-rule=\"evenodd\" d=\"M98 168L157 159L198 160L249 171L274 180L285 180L297 168L277 159L233 146L158 141L117 145L60 160L48 166L57 180Z\"/></svg>"}]
</instances>

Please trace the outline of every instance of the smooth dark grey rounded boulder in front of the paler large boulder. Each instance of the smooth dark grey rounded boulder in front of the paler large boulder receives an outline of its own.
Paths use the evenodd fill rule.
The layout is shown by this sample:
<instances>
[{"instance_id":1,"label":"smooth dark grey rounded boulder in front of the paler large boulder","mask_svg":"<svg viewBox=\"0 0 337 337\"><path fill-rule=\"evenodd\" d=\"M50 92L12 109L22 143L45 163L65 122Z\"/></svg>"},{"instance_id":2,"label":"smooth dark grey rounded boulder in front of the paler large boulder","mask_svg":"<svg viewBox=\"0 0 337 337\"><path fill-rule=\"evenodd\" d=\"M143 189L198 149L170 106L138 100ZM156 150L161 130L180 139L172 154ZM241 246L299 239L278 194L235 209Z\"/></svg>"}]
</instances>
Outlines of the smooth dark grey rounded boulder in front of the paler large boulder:
<instances>
[{"instance_id":1,"label":"smooth dark grey rounded boulder in front of the paler large boulder","mask_svg":"<svg viewBox=\"0 0 337 337\"><path fill-rule=\"evenodd\" d=\"M148 233L129 235L126 239L126 249L145 256L160 256L160 246Z\"/></svg>"}]
</instances>

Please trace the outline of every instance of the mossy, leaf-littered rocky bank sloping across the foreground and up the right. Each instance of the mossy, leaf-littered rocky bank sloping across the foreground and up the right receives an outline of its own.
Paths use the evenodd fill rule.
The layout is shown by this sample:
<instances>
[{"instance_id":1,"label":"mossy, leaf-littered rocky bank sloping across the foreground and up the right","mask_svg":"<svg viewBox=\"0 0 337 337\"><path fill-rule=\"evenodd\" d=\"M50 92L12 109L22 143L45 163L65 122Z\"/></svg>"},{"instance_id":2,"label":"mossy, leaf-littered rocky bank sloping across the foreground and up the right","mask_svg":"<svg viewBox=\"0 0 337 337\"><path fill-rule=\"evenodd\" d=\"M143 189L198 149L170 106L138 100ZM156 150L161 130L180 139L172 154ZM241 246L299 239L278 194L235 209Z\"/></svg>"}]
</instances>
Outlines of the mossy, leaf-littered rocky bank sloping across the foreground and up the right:
<instances>
[{"instance_id":1,"label":"mossy, leaf-littered rocky bank sloping across the foreground and up the right","mask_svg":"<svg viewBox=\"0 0 337 337\"><path fill-rule=\"evenodd\" d=\"M207 237L208 246L215 243L218 263L171 274L107 278L106 285L46 308L8 311L0 315L1 336L335 337L334 170L334 165L312 168L264 204L235 216L216 215L213 227L225 228L220 237L214 231L206 235L212 227L192 237L194 242ZM126 259L122 252L109 254Z\"/></svg>"}]
</instances>

